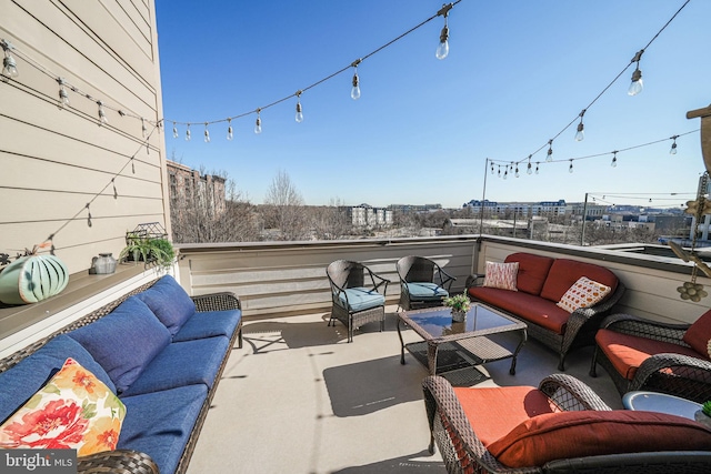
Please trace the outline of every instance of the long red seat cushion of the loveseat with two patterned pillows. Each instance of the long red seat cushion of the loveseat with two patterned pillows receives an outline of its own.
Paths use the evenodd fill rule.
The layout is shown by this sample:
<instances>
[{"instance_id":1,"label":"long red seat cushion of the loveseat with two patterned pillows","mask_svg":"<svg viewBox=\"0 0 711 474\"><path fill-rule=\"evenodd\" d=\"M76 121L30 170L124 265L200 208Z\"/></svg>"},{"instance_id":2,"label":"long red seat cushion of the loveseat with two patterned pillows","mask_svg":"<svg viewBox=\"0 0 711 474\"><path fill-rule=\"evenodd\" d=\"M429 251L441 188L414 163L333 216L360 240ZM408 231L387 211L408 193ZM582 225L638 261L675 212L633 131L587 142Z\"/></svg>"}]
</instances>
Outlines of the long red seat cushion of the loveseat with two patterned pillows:
<instances>
[{"instance_id":1,"label":"long red seat cushion of the loveseat with two patterned pillows","mask_svg":"<svg viewBox=\"0 0 711 474\"><path fill-rule=\"evenodd\" d=\"M528 322L545 327L555 334L563 334L570 319L570 313L558 307L554 302L521 291L514 293L493 288L472 286L469 289L469 295L474 300L492 304Z\"/></svg>"}]
</instances>

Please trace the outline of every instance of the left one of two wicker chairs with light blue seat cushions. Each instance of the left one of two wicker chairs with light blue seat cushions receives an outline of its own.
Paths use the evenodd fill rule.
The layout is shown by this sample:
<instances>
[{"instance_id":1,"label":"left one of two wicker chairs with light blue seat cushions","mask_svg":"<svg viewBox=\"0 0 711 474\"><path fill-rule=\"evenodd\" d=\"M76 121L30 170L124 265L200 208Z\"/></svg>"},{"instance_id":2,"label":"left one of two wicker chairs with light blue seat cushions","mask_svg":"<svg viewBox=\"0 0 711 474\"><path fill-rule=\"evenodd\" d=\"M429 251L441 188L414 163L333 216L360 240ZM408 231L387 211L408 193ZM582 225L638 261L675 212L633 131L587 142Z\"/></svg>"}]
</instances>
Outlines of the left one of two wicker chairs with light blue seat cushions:
<instances>
[{"instance_id":1,"label":"left one of two wicker chairs with light blue seat cushions","mask_svg":"<svg viewBox=\"0 0 711 474\"><path fill-rule=\"evenodd\" d=\"M385 292L390 280L373 273L368 266L349 260L337 260L326 269L331 285L331 317L348 327L348 342L353 342L353 327L379 321L385 329Z\"/></svg>"}]
</instances>

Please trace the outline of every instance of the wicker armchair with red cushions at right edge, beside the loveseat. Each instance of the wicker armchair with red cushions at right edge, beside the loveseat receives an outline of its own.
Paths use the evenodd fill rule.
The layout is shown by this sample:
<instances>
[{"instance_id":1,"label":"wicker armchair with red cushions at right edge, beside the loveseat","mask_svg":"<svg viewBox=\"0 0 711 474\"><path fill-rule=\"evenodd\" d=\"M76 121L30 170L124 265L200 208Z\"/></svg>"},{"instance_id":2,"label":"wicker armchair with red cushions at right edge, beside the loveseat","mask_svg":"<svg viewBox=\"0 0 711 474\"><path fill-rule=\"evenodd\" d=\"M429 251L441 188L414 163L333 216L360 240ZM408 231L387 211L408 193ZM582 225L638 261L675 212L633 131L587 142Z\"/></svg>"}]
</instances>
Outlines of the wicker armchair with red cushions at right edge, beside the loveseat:
<instances>
[{"instance_id":1,"label":"wicker armchair with red cushions at right edge, beside the loveseat","mask_svg":"<svg viewBox=\"0 0 711 474\"><path fill-rule=\"evenodd\" d=\"M620 394L649 390L698 403L711 400L711 361L684 342L690 327L629 314L608 316L595 336L590 375L597 375L600 363Z\"/></svg>"}]
</instances>

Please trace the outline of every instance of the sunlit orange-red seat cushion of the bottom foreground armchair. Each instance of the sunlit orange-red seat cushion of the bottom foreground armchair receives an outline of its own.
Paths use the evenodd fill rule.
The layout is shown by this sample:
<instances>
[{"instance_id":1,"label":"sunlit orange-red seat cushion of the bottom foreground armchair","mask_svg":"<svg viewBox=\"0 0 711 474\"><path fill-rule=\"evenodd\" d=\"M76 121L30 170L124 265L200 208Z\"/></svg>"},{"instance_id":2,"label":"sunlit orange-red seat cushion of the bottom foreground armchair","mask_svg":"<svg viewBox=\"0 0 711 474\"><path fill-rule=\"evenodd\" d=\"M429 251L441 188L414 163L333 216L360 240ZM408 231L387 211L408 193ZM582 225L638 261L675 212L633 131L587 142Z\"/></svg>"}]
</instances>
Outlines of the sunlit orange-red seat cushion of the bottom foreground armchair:
<instances>
[{"instance_id":1,"label":"sunlit orange-red seat cushion of the bottom foreground armchair","mask_svg":"<svg viewBox=\"0 0 711 474\"><path fill-rule=\"evenodd\" d=\"M551 413L543 392L533 386L453 387L469 424L484 446L531 416Z\"/></svg>"}]
</instances>

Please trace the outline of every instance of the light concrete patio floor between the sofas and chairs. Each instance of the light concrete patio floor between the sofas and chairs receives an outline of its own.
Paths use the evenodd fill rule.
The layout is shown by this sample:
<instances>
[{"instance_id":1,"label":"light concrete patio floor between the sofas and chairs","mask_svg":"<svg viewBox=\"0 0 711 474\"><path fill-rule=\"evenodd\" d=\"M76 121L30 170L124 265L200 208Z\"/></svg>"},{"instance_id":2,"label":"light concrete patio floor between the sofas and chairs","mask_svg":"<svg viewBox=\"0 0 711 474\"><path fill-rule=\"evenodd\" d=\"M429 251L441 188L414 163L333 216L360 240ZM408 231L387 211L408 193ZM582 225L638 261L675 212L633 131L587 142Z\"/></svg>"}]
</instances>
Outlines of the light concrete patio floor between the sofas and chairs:
<instances>
[{"instance_id":1,"label":"light concrete patio floor between the sofas and chairs","mask_svg":"<svg viewBox=\"0 0 711 474\"><path fill-rule=\"evenodd\" d=\"M327 325L326 312L246 322L243 347L228 361L188 473L444 473L439 452L427 451L428 371L407 352L400 364L397 309L387 310L384 332L367 324L350 344L341 323ZM403 336L420 340L412 330ZM588 375L591 356L591 347L573 352L565 373L620 409L605 371ZM487 364L490 379L478 386L535 386L558 372L555 354L531 340L517 374L509 367Z\"/></svg>"}]
</instances>

